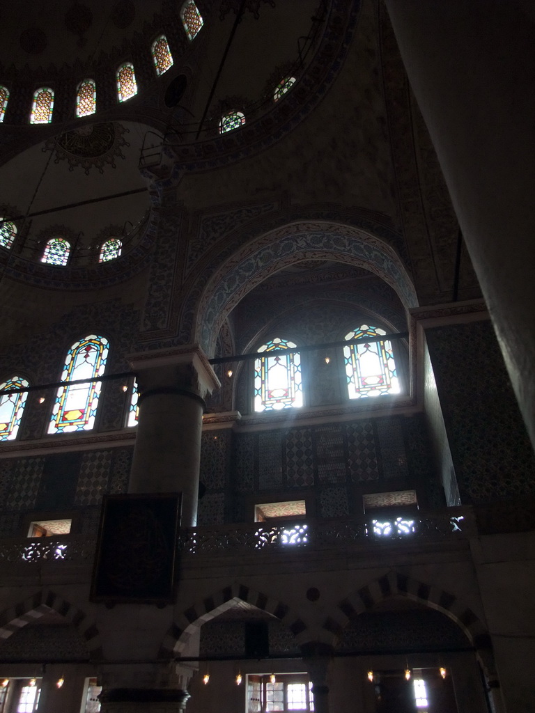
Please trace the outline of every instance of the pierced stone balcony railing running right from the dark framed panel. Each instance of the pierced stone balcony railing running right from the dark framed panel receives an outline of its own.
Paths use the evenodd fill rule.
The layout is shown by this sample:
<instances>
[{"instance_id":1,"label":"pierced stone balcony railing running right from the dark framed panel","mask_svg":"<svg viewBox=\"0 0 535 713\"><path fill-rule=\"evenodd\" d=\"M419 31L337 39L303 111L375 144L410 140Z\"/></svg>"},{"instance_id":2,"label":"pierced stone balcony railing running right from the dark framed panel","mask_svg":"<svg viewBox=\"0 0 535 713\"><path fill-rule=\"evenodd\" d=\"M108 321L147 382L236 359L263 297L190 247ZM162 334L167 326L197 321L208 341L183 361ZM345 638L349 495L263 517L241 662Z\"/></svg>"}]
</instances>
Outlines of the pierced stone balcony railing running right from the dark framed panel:
<instances>
[{"instance_id":1,"label":"pierced stone balcony railing running right from the dark framed panel","mask_svg":"<svg viewBox=\"0 0 535 713\"><path fill-rule=\"evenodd\" d=\"M178 536L178 547L184 554L232 554L237 551L285 551L293 548L310 550L348 547L350 545L384 545L466 538L472 532L469 511L452 508L427 515L397 515L366 520L317 520L308 523L270 525L220 525L213 528L188 528Z\"/></svg>"}]
</instances>

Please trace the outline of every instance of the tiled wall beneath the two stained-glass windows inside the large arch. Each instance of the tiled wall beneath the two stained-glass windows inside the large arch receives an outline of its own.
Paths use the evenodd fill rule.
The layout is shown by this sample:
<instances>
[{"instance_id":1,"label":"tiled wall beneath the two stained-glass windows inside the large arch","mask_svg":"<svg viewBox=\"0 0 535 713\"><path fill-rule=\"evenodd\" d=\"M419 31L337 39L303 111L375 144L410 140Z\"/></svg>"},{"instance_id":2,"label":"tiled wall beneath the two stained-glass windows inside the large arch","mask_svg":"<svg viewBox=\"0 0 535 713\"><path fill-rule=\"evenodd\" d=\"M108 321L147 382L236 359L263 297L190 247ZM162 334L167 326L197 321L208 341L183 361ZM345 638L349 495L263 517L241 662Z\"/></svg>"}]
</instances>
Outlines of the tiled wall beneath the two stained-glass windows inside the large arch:
<instances>
[{"instance_id":1,"label":"tiled wall beneath the two stained-glass windows inside the large arch","mask_svg":"<svg viewBox=\"0 0 535 713\"><path fill-rule=\"evenodd\" d=\"M242 522L252 501L302 497L312 516L362 513L362 494L415 488L421 507L445 505L421 415L203 435L199 525ZM300 495L301 493L301 495Z\"/></svg>"}]
</instances>

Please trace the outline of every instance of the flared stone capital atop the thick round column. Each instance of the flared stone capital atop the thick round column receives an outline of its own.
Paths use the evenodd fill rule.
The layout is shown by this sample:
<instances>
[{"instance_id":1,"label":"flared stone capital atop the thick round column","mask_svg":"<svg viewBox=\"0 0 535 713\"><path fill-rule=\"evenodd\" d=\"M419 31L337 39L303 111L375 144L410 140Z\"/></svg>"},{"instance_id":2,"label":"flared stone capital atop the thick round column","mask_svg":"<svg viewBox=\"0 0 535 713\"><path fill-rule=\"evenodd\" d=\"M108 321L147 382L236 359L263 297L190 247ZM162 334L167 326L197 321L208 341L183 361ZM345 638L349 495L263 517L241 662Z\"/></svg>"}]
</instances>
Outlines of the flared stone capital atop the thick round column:
<instances>
[{"instance_id":1,"label":"flared stone capital atop the thick round column","mask_svg":"<svg viewBox=\"0 0 535 713\"><path fill-rule=\"evenodd\" d=\"M127 359L138 374L142 393L147 389L182 385L204 399L221 386L208 357L198 344L137 352L128 355Z\"/></svg>"}]
</instances>

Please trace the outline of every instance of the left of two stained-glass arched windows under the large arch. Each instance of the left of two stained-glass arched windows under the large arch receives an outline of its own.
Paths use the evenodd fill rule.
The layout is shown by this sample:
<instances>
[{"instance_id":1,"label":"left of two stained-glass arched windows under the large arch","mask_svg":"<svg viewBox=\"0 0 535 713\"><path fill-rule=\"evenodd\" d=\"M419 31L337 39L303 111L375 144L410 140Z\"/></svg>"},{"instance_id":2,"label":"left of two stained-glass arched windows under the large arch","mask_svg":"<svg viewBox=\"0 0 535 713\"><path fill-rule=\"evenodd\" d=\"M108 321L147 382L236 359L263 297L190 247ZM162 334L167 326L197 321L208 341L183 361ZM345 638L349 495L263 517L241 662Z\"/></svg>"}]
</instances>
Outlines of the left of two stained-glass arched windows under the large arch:
<instances>
[{"instance_id":1,"label":"left of two stained-glass arched windows under the large arch","mask_svg":"<svg viewBox=\"0 0 535 713\"><path fill-rule=\"evenodd\" d=\"M295 349L287 339L272 339L258 352ZM255 411L280 411L302 406L301 357L297 352L255 359Z\"/></svg>"}]
</instances>

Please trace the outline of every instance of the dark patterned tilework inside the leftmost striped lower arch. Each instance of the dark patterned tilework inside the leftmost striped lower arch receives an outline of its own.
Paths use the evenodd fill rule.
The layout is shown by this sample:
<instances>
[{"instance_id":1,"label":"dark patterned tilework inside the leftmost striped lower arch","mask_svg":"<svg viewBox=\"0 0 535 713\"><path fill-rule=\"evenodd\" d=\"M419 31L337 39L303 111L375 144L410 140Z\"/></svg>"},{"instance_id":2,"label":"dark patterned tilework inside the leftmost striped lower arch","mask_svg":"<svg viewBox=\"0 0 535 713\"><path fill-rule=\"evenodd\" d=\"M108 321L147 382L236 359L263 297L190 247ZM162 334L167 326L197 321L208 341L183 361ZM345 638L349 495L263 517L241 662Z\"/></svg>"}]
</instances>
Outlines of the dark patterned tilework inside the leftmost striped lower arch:
<instances>
[{"instance_id":1,"label":"dark patterned tilework inside the leftmost striped lower arch","mask_svg":"<svg viewBox=\"0 0 535 713\"><path fill-rule=\"evenodd\" d=\"M54 652L61 661L88 659L89 652L83 637L68 624L26 624L0 643L0 657L4 661L25 659L46 661Z\"/></svg>"}]
</instances>

